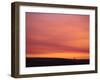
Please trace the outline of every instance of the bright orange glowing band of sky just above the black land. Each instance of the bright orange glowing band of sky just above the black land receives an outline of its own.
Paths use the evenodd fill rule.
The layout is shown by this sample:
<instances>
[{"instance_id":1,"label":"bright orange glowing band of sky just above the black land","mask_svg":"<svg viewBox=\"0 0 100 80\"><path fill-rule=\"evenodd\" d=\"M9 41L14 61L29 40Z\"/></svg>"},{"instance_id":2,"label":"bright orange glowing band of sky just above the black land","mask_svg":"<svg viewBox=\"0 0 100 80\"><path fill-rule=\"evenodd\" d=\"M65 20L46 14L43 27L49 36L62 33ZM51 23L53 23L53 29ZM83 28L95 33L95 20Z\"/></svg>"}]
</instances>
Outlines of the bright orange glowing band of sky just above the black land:
<instances>
[{"instance_id":1,"label":"bright orange glowing band of sky just above the black land","mask_svg":"<svg viewBox=\"0 0 100 80\"><path fill-rule=\"evenodd\" d=\"M64 59L89 59L88 53L79 52L52 52L42 54L27 54L27 58L64 58Z\"/></svg>"}]
</instances>

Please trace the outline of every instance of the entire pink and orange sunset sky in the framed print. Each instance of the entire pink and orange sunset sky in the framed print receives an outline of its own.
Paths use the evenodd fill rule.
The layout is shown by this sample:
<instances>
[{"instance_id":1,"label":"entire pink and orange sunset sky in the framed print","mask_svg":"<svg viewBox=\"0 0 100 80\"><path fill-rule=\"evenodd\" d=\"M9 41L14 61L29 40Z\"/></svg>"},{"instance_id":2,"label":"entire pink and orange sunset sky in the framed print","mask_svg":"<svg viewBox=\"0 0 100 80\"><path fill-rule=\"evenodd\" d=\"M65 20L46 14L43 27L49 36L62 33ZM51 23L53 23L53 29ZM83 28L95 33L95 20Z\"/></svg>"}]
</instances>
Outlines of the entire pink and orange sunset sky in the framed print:
<instances>
[{"instance_id":1,"label":"entire pink and orange sunset sky in the framed print","mask_svg":"<svg viewBox=\"0 0 100 80\"><path fill-rule=\"evenodd\" d=\"M89 59L89 15L27 12L26 57Z\"/></svg>"}]
</instances>

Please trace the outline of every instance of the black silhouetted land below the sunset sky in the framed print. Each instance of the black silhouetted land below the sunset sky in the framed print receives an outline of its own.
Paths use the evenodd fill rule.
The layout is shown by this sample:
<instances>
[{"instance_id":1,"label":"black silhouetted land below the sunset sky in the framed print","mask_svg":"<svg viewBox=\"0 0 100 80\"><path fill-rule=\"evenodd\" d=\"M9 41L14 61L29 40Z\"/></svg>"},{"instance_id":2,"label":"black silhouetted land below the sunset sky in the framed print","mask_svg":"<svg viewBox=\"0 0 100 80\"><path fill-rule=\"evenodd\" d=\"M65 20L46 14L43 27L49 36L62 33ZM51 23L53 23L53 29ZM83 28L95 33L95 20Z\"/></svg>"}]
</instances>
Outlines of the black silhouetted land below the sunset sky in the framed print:
<instances>
[{"instance_id":1,"label":"black silhouetted land below the sunset sky in the framed print","mask_svg":"<svg viewBox=\"0 0 100 80\"><path fill-rule=\"evenodd\" d=\"M26 58L26 67L89 64L88 59Z\"/></svg>"}]
</instances>

